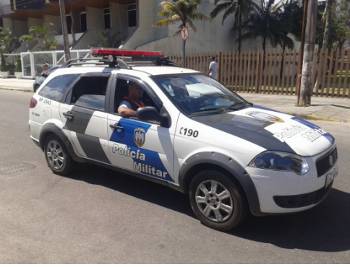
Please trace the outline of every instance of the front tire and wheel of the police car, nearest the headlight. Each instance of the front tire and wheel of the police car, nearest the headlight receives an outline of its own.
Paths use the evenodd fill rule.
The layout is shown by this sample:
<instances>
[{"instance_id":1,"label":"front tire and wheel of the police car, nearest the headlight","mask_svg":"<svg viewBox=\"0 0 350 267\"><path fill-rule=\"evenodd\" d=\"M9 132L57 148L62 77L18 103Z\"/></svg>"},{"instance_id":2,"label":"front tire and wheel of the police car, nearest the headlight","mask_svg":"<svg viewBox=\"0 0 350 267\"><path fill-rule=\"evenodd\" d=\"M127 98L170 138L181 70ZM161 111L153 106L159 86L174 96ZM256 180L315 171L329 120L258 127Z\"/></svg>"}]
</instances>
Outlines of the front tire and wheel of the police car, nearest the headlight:
<instances>
[{"instance_id":1,"label":"front tire and wheel of the police car, nearest the headlight","mask_svg":"<svg viewBox=\"0 0 350 267\"><path fill-rule=\"evenodd\" d=\"M204 225L229 231L248 214L245 196L233 178L217 170L201 171L189 186L191 208Z\"/></svg>"}]
</instances>

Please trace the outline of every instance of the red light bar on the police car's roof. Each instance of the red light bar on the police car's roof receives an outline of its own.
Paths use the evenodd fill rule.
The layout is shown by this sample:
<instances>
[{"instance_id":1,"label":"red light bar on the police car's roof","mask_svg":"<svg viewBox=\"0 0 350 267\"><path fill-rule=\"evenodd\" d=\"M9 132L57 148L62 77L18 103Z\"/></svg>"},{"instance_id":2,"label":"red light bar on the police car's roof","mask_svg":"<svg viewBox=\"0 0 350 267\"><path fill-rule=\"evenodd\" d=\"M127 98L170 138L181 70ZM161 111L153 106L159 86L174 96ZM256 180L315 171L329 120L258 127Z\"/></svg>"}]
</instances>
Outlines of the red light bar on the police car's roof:
<instances>
[{"instance_id":1,"label":"red light bar on the police car's roof","mask_svg":"<svg viewBox=\"0 0 350 267\"><path fill-rule=\"evenodd\" d=\"M92 56L115 56L115 57L136 57L136 58L159 58L164 57L161 52L121 50L113 48L91 48Z\"/></svg>"}]
</instances>

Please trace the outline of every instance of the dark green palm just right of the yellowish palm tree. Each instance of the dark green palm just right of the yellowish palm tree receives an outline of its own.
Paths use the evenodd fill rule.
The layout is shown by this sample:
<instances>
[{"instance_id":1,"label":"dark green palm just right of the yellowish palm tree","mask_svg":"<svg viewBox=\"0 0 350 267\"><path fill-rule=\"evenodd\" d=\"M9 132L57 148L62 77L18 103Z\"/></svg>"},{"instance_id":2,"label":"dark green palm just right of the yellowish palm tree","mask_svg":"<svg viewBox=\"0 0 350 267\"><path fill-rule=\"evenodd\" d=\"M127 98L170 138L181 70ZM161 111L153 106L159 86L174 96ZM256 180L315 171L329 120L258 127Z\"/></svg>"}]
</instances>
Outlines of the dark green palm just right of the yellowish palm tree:
<instances>
[{"instance_id":1,"label":"dark green palm just right of the yellowish palm tree","mask_svg":"<svg viewBox=\"0 0 350 267\"><path fill-rule=\"evenodd\" d=\"M234 16L233 30L238 32L238 53L241 53L242 48L243 24L248 18L253 5L255 5L255 2L252 0L215 0L215 8L210 13L211 18L215 18L223 12L222 24L230 15Z\"/></svg>"}]
</instances>

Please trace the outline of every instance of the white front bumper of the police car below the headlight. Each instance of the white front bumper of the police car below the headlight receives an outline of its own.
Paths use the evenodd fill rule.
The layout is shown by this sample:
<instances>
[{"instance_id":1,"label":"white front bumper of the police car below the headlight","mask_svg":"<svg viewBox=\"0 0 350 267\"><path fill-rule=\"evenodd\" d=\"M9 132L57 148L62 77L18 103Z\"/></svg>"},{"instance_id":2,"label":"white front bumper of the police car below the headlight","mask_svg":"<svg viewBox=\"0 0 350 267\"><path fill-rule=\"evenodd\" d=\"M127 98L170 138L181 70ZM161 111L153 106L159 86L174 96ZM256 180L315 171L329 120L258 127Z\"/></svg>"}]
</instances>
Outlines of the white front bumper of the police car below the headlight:
<instances>
[{"instance_id":1,"label":"white front bumper of the police car below the headlight","mask_svg":"<svg viewBox=\"0 0 350 267\"><path fill-rule=\"evenodd\" d=\"M264 170L248 167L258 193L262 213L291 213L310 209L326 198L338 174L335 163L318 177L316 162L335 146L315 157L307 158L310 170L306 175L293 172Z\"/></svg>"}]
</instances>

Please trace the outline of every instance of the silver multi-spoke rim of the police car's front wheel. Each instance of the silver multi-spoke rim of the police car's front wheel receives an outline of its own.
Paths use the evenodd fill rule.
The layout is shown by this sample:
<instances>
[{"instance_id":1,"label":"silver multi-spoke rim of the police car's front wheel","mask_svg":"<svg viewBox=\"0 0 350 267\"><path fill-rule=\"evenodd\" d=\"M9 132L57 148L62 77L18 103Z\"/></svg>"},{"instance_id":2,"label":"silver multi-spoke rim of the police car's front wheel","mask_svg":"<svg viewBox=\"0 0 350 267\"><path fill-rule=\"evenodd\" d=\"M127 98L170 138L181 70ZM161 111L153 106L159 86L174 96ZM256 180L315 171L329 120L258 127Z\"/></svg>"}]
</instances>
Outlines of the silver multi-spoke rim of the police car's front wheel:
<instances>
[{"instance_id":1,"label":"silver multi-spoke rim of the police car's front wheel","mask_svg":"<svg viewBox=\"0 0 350 267\"><path fill-rule=\"evenodd\" d=\"M213 222L224 222L233 213L234 206L230 191L215 180L200 183L195 198L200 212Z\"/></svg>"}]
</instances>

